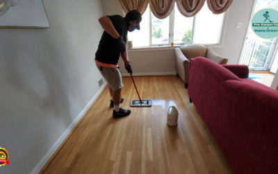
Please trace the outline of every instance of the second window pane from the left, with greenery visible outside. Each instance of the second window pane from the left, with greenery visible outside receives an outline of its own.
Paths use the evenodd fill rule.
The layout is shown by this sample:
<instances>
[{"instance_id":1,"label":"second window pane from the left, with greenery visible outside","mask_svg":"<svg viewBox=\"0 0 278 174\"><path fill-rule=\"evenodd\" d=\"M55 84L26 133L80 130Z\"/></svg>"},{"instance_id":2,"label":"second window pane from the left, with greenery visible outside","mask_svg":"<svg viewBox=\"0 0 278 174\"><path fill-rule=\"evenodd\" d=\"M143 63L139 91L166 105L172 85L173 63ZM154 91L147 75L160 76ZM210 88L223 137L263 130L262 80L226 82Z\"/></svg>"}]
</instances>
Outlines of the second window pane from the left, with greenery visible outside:
<instances>
[{"instance_id":1,"label":"second window pane from the left, with greenery visible outside","mask_svg":"<svg viewBox=\"0 0 278 174\"><path fill-rule=\"evenodd\" d=\"M152 45L169 44L169 16L158 19L152 14Z\"/></svg>"}]
</instances>

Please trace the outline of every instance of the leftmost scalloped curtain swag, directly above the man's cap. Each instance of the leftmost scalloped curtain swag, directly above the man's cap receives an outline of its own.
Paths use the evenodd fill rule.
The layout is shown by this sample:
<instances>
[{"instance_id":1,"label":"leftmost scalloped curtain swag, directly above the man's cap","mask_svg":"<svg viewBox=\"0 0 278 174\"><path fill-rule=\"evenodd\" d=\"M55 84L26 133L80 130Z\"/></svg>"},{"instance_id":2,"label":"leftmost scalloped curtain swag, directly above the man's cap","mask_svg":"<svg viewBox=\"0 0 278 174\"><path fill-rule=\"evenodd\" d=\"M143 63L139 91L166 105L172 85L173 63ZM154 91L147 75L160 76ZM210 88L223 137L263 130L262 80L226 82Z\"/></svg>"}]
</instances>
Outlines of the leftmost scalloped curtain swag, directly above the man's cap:
<instances>
[{"instance_id":1,"label":"leftmost scalloped curtain swag, directly above the man's cap","mask_svg":"<svg viewBox=\"0 0 278 174\"><path fill-rule=\"evenodd\" d=\"M131 10L138 10L141 15L145 12L147 9L147 4L149 3L149 0L119 0L120 4L122 6L122 9L124 9L124 13L128 13Z\"/></svg>"}]
</instances>

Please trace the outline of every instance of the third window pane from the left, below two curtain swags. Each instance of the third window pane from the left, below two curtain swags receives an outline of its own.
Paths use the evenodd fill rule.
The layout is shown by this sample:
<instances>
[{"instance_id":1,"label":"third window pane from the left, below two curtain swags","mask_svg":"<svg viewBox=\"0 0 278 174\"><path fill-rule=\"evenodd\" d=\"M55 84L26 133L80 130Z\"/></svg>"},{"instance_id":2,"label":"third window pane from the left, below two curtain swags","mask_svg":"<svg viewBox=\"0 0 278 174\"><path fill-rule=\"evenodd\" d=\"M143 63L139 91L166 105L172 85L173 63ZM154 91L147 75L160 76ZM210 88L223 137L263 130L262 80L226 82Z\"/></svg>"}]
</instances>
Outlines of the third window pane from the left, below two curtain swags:
<instances>
[{"instance_id":1,"label":"third window pane from the left, below two curtain swags","mask_svg":"<svg viewBox=\"0 0 278 174\"><path fill-rule=\"evenodd\" d=\"M185 17L179 13L177 4L174 4L174 43L185 44L191 42L193 17Z\"/></svg>"}]
</instances>

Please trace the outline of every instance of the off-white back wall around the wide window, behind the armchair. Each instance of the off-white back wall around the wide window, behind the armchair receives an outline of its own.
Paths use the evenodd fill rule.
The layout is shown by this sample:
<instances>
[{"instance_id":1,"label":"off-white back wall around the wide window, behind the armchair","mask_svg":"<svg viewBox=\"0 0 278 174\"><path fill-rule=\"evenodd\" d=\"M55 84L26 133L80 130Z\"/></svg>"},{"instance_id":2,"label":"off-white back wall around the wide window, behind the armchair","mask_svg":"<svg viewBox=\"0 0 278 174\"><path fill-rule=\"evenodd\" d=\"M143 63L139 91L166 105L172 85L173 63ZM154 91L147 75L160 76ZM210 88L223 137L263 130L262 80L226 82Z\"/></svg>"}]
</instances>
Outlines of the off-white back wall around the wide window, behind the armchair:
<instances>
[{"instance_id":1,"label":"off-white back wall around the wide window, behind the armchair","mask_svg":"<svg viewBox=\"0 0 278 174\"><path fill-rule=\"evenodd\" d=\"M217 54L229 58L228 64L237 64L239 61L253 2L254 0L234 0L227 10L221 45L213 47L213 50ZM104 15L122 15L119 1L105 0L103 5ZM236 29L236 22L242 22L243 27ZM167 50L132 49L129 50L129 59L134 74L172 74L176 71L173 48ZM120 62L120 66L122 67L121 72L125 74L122 62Z\"/></svg>"}]
</instances>

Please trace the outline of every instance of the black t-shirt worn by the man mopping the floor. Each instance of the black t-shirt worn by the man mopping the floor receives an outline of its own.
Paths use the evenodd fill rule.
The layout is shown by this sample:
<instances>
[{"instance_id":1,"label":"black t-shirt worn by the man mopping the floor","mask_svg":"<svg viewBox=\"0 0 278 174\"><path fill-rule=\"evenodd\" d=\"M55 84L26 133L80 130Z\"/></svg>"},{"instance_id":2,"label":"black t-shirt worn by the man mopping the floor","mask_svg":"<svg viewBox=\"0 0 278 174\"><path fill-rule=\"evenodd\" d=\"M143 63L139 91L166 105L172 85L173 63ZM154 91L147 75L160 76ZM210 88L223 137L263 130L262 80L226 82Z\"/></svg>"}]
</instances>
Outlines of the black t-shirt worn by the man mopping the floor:
<instances>
[{"instance_id":1,"label":"black t-shirt worn by the man mopping the floor","mask_svg":"<svg viewBox=\"0 0 278 174\"><path fill-rule=\"evenodd\" d=\"M120 15L108 16L111 19L113 26L115 27L117 33L119 33L124 42L126 42L126 35L128 31L128 26L126 19ZM101 36L99 41L99 47L95 54L97 61L101 63L117 65L120 58L120 50L117 49L117 39L113 38L106 31Z\"/></svg>"}]
</instances>

